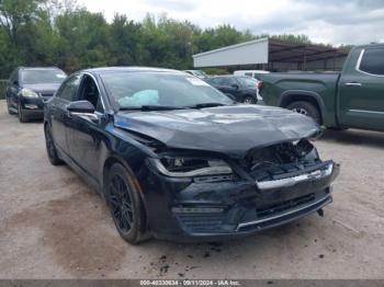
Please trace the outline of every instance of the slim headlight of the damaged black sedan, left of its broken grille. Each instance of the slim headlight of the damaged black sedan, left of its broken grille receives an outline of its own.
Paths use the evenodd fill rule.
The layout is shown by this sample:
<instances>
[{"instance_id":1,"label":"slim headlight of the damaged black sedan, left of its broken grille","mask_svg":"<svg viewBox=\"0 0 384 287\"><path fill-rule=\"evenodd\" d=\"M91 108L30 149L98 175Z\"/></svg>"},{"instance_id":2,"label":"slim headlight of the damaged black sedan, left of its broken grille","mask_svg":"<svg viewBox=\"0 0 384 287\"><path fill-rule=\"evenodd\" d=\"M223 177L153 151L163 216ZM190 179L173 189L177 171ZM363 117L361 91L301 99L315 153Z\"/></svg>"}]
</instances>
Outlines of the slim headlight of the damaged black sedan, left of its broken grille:
<instances>
[{"instance_id":1,"label":"slim headlight of the damaged black sedan, left of its broken grille","mask_svg":"<svg viewBox=\"0 0 384 287\"><path fill-rule=\"evenodd\" d=\"M223 160L203 158L148 159L162 174L176 177L231 174L233 170Z\"/></svg>"}]
</instances>

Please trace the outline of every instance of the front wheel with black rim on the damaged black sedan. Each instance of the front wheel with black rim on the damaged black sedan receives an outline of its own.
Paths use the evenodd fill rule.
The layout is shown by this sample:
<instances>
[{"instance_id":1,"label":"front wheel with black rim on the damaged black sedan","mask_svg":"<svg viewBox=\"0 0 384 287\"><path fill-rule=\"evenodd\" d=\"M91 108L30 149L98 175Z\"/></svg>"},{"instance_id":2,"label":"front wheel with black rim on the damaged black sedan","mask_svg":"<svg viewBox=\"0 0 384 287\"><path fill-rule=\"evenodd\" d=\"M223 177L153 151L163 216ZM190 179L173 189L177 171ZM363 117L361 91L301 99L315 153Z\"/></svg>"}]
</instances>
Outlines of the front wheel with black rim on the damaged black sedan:
<instances>
[{"instance_id":1,"label":"front wheel with black rim on the damaged black sedan","mask_svg":"<svg viewBox=\"0 0 384 287\"><path fill-rule=\"evenodd\" d=\"M120 163L108 174L105 199L120 236L132 244L145 240L146 214L133 176Z\"/></svg>"}]
</instances>

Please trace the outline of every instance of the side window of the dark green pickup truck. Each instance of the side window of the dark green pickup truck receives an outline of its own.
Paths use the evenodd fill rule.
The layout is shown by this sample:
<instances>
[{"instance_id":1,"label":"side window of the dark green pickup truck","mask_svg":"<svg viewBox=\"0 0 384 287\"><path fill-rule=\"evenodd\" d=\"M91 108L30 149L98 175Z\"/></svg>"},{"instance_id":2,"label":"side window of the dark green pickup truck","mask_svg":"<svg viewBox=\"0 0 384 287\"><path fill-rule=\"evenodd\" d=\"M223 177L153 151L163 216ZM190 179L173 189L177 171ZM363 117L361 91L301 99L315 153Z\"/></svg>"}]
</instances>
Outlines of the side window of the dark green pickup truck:
<instances>
[{"instance_id":1,"label":"side window of the dark green pickup truck","mask_svg":"<svg viewBox=\"0 0 384 287\"><path fill-rule=\"evenodd\" d=\"M359 70L368 73L384 76L384 49L365 49L360 61Z\"/></svg>"}]
</instances>

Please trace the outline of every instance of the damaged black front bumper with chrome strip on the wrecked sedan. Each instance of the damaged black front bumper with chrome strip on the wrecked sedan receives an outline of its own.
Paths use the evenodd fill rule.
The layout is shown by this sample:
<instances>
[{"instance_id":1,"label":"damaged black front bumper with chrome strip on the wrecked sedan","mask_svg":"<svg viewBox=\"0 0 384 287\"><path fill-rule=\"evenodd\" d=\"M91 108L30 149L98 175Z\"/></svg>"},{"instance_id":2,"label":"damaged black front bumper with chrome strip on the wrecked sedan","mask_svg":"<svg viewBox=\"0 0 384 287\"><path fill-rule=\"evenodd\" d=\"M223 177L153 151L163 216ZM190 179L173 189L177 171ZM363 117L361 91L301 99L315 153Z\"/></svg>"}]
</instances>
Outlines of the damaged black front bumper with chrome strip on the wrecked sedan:
<instances>
[{"instance_id":1,"label":"damaged black front bumper with chrome strip on the wrecked sedan","mask_svg":"<svg viewBox=\"0 0 384 287\"><path fill-rule=\"evenodd\" d=\"M332 202L339 173L332 161L284 167L253 181L221 176L176 179L143 171L149 229L173 241L237 238L276 227Z\"/></svg>"}]
</instances>

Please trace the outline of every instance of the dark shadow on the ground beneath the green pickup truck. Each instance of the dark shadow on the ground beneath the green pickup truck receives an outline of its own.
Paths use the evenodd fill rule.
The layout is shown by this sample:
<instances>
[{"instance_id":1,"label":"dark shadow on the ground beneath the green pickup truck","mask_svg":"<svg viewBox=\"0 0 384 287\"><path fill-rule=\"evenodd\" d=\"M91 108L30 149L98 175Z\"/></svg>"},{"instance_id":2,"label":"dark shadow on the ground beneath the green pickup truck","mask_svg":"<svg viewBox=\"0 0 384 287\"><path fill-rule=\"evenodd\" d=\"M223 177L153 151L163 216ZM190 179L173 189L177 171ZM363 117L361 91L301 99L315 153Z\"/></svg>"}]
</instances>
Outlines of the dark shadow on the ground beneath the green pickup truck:
<instances>
[{"instance_id":1,"label":"dark shadow on the ground beneath the green pickup truck","mask_svg":"<svg viewBox=\"0 0 384 287\"><path fill-rule=\"evenodd\" d=\"M342 142L345 145L364 145L373 148L383 148L384 133L360 129L327 129L319 140L329 142Z\"/></svg>"}]
</instances>

